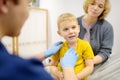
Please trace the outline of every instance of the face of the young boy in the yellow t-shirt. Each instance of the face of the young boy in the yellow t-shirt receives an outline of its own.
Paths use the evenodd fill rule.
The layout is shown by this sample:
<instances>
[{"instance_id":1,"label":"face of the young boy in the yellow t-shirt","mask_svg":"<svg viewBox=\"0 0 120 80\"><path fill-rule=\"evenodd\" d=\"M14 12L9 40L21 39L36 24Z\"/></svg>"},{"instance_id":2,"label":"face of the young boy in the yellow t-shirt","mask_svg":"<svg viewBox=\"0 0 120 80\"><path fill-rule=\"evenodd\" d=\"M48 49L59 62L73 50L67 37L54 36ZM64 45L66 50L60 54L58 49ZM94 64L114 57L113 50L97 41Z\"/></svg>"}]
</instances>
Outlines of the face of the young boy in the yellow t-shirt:
<instances>
[{"instance_id":1,"label":"face of the young boy in the yellow t-shirt","mask_svg":"<svg viewBox=\"0 0 120 80\"><path fill-rule=\"evenodd\" d=\"M80 27L76 21L64 21L59 26L58 34L67 42L72 43L77 40L80 32Z\"/></svg>"}]
</instances>

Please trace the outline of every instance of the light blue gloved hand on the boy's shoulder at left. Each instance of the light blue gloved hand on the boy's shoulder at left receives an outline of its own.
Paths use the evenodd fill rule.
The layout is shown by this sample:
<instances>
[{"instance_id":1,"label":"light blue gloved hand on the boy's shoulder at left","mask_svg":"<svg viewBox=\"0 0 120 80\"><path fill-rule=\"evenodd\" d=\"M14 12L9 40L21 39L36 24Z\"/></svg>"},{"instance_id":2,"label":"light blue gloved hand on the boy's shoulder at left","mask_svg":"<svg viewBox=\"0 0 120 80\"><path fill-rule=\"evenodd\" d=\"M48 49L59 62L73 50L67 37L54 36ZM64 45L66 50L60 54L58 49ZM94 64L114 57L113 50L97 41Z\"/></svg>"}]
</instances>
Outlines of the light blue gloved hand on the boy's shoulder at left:
<instances>
[{"instance_id":1,"label":"light blue gloved hand on the boy's shoulder at left","mask_svg":"<svg viewBox=\"0 0 120 80\"><path fill-rule=\"evenodd\" d=\"M51 45L48 50L46 50L45 53L45 57L50 57L51 55L57 53L59 51L59 49L62 47L62 41L59 41L53 45Z\"/></svg>"}]
</instances>

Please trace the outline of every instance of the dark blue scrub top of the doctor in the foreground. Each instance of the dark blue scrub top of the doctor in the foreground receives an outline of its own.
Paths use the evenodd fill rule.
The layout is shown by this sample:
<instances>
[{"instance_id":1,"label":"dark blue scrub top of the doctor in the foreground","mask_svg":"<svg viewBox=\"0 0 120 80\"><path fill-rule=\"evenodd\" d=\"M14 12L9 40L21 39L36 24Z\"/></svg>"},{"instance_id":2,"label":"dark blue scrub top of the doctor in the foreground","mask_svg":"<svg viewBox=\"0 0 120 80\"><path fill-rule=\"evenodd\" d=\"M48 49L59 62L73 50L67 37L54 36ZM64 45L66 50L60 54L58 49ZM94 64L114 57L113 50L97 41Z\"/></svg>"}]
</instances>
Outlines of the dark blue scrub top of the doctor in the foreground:
<instances>
[{"instance_id":1,"label":"dark blue scrub top of the doctor in the foreground","mask_svg":"<svg viewBox=\"0 0 120 80\"><path fill-rule=\"evenodd\" d=\"M41 61L10 55L0 41L0 80L53 80Z\"/></svg>"}]
</instances>

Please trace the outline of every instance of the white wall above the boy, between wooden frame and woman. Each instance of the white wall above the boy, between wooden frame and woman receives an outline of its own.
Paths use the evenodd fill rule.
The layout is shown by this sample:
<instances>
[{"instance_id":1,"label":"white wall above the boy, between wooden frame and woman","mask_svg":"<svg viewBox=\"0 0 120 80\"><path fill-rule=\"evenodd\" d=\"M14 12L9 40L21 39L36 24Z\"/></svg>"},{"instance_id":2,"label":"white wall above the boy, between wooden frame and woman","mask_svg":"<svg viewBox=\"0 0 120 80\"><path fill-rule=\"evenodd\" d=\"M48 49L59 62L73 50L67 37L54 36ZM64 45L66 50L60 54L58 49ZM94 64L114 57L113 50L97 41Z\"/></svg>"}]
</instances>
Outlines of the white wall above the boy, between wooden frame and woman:
<instances>
[{"instance_id":1,"label":"white wall above the boy, between wooden frame and woman","mask_svg":"<svg viewBox=\"0 0 120 80\"><path fill-rule=\"evenodd\" d=\"M57 17L64 12L82 15L82 3L82 0L40 0L40 7L48 9L49 13L49 44L61 40L57 34Z\"/></svg>"}]
</instances>

